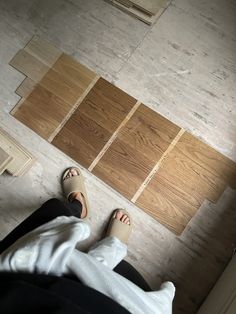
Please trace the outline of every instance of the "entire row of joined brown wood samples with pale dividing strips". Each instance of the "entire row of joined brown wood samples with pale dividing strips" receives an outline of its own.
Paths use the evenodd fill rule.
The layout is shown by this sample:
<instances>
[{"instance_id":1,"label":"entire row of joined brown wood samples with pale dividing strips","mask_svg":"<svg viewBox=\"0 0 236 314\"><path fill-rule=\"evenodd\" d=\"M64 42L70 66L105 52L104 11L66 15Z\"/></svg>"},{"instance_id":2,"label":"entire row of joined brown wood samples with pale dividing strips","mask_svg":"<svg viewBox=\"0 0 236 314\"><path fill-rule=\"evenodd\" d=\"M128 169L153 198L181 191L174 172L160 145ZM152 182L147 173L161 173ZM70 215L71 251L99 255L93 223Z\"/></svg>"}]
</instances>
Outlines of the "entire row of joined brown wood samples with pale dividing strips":
<instances>
[{"instance_id":1,"label":"entire row of joined brown wood samples with pale dividing strips","mask_svg":"<svg viewBox=\"0 0 236 314\"><path fill-rule=\"evenodd\" d=\"M11 114L180 235L204 200L236 188L236 163L35 36Z\"/></svg>"}]
</instances>

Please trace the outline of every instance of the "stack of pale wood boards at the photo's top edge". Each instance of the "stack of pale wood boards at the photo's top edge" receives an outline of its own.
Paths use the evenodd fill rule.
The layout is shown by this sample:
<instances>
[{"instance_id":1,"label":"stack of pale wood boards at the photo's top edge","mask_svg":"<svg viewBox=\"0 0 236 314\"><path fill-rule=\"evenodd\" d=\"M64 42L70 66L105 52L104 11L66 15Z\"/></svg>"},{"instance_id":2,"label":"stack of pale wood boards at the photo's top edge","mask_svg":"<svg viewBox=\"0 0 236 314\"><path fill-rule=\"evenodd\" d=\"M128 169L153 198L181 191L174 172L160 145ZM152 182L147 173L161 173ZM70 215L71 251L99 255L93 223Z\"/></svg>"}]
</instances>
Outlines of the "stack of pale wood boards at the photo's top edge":
<instances>
[{"instance_id":1,"label":"stack of pale wood boards at the photo's top edge","mask_svg":"<svg viewBox=\"0 0 236 314\"><path fill-rule=\"evenodd\" d=\"M107 0L124 12L152 25L169 6L171 0Z\"/></svg>"}]
</instances>

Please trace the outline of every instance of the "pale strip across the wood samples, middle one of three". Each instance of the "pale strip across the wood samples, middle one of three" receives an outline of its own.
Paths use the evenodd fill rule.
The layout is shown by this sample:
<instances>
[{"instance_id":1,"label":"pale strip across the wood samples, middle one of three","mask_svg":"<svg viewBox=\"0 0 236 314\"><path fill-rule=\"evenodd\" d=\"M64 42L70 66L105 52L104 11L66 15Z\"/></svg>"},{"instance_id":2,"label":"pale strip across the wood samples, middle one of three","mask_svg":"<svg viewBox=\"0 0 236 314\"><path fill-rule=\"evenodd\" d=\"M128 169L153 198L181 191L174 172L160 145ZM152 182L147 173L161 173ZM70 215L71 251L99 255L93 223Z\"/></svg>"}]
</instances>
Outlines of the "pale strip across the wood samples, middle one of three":
<instances>
[{"instance_id":1,"label":"pale strip across the wood samples, middle one of three","mask_svg":"<svg viewBox=\"0 0 236 314\"><path fill-rule=\"evenodd\" d=\"M120 130L126 125L126 123L129 121L129 119L132 117L132 115L135 113L135 111L138 109L138 107L140 106L141 101L137 101L135 103L135 105L133 106L133 108L130 110L130 112L126 115L126 117L124 118L124 120L120 123L120 125L118 126L118 128L115 130L115 132L112 134L112 136L110 137L110 139L107 141L107 143L104 145L104 147L102 148L102 150L100 151L100 153L97 155L97 157L94 159L94 161L91 163L91 165L89 166L88 170L92 171L94 169L94 167L97 165L97 163L99 162L99 160L102 158L102 156L106 153L106 151L108 150L108 148L111 146L111 144L114 142L114 140L117 138Z\"/></svg>"}]
</instances>

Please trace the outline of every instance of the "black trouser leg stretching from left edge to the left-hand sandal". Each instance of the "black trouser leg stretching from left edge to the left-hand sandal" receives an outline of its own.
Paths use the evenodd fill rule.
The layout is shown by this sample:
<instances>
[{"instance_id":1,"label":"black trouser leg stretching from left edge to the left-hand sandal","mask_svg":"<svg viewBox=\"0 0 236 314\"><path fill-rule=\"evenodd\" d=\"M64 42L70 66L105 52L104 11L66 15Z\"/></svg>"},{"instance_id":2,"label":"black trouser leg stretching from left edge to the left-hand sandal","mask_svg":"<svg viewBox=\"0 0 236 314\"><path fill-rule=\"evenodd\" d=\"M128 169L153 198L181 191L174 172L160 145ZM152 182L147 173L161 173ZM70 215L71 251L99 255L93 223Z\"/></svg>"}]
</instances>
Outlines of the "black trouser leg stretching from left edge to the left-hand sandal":
<instances>
[{"instance_id":1,"label":"black trouser leg stretching from left edge to the left-hand sandal","mask_svg":"<svg viewBox=\"0 0 236 314\"><path fill-rule=\"evenodd\" d=\"M77 200L68 204L64 204L56 198L48 200L0 242L0 254L17 239L50 220L58 216L75 216L80 218L81 212L82 205Z\"/></svg>"}]
</instances>

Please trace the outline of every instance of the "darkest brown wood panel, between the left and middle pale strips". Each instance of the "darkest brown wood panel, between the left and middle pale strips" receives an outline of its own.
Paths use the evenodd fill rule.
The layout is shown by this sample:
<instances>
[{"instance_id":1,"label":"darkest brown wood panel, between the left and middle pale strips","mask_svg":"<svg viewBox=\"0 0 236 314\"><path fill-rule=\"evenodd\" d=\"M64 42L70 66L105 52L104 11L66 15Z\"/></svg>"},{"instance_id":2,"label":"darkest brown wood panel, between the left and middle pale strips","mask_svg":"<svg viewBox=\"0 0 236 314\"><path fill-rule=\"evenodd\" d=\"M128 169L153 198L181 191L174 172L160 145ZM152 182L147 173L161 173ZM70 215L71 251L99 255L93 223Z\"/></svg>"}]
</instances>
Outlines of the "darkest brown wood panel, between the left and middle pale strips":
<instances>
[{"instance_id":1,"label":"darkest brown wood panel, between the left and middle pale strips","mask_svg":"<svg viewBox=\"0 0 236 314\"><path fill-rule=\"evenodd\" d=\"M99 79L52 143L88 168L135 103Z\"/></svg>"}]
</instances>

